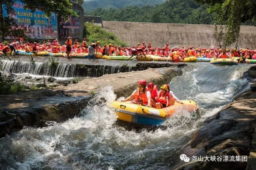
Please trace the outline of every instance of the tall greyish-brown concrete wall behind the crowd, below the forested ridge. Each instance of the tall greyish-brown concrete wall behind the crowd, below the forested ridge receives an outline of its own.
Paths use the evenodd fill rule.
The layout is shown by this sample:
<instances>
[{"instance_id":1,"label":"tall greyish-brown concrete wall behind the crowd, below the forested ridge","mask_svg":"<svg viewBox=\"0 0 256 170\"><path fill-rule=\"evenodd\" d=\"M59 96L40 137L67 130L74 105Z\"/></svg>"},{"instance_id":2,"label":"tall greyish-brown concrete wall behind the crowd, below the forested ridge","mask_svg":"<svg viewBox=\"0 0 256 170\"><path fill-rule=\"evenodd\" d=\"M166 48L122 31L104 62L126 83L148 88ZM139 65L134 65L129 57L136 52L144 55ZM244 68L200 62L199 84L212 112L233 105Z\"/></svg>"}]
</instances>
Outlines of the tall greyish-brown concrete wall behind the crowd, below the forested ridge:
<instances>
[{"instance_id":1,"label":"tall greyish-brown concrete wall behind the crowd, below the forested ridge","mask_svg":"<svg viewBox=\"0 0 256 170\"><path fill-rule=\"evenodd\" d=\"M111 31L129 46L143 41L152 43L153 47L163 47L166 43L170 46L182 46L185 48L210 46L219 47L219 42L214 38L214 25L195 24L170 24L170 23L135 23L119 21L102 21L103 28ZM256 48L256 27L241 26L240 48ZM234 47L234 44L230 47Z\"/></svg>"}]
</instances>

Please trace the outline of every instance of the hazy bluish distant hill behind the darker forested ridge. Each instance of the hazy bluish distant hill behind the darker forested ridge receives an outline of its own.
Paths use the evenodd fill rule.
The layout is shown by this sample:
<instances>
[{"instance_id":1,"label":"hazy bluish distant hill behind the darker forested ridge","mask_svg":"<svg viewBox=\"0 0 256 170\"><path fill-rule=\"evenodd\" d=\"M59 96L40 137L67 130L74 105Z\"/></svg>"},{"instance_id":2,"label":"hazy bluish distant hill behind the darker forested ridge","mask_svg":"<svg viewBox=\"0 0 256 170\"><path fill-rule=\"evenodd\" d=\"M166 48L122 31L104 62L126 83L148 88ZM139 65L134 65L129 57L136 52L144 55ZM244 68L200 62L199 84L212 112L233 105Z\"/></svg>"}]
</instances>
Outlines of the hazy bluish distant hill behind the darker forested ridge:
<instances>
[{"instance_id":1,"label":"hazy bluish distant hill behind the darker forested ridge","mask_svg":"<svg viewBox=\"0 0 256 170\"><path fill-rule=\"evenodd\" d=\"M96 8L119 9L127 6L155 6L156 4L162 4L163 2L165 2L165 0L90 0L83 2L81 6L87 15L88 12L91 12Z\"/></svg>"}]
</instances>

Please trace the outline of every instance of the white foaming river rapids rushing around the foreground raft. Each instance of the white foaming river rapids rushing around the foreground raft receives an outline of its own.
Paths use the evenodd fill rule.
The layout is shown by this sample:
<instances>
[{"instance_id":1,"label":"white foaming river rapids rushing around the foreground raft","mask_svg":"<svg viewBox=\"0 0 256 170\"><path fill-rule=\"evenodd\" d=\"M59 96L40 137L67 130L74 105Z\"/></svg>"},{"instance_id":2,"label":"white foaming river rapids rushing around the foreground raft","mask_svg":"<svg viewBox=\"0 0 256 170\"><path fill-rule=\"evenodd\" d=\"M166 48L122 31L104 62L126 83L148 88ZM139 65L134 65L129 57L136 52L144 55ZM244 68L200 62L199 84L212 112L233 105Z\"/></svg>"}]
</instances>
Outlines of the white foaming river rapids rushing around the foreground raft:
<instances>
[{"instance_id":1,"label":"white foaming river rapids rushing around the foreground raft","mask_svg":"<svg viewBox=\"0 0 256 170\"><path fill-rule=\"evenodd\" d=\"M241 79L248 68L248 64L188 64L170 87L179 99L197 102L198 118L180 111L165 122L167 128L154 131L117 124L108 106L115 95L105 87L92 102L104 97L106 104L88 106L63 123L25 127L0 139L0 169L169 169L202 122L248 89L248 80Z\"/></svg>"}]
</instances>

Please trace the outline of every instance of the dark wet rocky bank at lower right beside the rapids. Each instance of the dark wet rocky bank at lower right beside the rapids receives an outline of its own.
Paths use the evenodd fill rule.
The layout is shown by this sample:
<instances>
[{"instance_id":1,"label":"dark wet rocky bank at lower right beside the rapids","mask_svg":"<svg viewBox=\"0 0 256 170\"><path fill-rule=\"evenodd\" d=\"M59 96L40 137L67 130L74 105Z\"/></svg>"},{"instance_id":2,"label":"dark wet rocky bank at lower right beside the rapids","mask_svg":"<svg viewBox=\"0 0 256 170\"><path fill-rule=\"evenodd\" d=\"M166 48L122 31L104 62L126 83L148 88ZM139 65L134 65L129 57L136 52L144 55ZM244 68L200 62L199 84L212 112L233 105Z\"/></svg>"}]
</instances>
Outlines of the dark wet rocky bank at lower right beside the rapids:
<instances>
[{"instance_id":1,"label":"dark wet rocky bank at lower right beside the rapids","mask_svg":"<svg viewBox=\"0 0 256 170\"><path fill-rule=\"evenodd\" d=\"M246 71L247 75L256 78L256 66ZM254 82L253 80L252 82ZM214 116L207 118L202 126L193 134L191 141L177 153L192 156L249 156L246 161L191 161L186 163L177 159L173 169L204 170L204 169L255 169L256 165L256 91L253 84L248 90L237 96ZM252 145L254 143L254 145ZM210 160L210 158L209 158Z\"/></svg>"}]
</instances>

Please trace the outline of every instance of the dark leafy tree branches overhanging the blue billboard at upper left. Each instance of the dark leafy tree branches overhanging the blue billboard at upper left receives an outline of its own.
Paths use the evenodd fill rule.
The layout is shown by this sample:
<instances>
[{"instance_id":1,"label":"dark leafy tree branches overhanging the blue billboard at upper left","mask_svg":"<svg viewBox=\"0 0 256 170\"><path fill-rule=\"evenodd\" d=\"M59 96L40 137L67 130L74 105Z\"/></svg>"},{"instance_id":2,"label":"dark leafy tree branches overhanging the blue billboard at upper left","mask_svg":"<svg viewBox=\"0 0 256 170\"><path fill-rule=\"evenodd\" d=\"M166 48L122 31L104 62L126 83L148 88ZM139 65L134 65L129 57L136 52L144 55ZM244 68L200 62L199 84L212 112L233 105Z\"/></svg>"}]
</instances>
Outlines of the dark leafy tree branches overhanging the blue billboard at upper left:
<instances>
[{"instance_id":1,"label":"dark leafy tree branches overhanging the blue billboard at upper left","mask_svg":"<svg viewBox=\"0 0 256 170\"><path fill-rule=\"evenodd\" d=\"M0 0L1 4L5 5L6 10L11 10L15 0ZM76 2L81 0L76 0ZM42 10L46 15L50 15L51 12L55 12L58 15L67 17L68 15L77 15L72 9L72 4L69 0L22 0L26 4L25 8L34 12L36 9ZM13 35L15 37L25 37L24 30L12 29L12 26L17 26L16 20L11 17L3 16L3 7L0 7L0 39L4 40L6 35Z\"/></svg>"}]
</instances>

